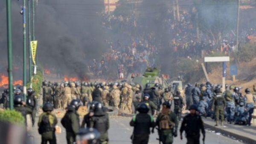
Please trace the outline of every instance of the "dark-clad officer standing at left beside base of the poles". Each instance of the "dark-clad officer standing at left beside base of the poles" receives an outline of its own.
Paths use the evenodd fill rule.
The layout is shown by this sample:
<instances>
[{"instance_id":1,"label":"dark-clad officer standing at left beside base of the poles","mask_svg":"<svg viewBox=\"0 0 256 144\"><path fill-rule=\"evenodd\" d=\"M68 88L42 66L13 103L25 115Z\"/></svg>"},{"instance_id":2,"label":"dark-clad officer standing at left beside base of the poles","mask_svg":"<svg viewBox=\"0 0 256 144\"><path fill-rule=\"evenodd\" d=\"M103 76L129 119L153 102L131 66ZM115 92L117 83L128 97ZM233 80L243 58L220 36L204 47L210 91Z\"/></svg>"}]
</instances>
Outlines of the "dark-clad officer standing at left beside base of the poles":
<instances>
[{"instance_id":1,"label":"dark-clad officer standing at left beside base of the poles","mask_svg":"<svg viewBox=\"0 0 256 144\"><path fill-rule=\"evenodd\" d=\"M35 126L35 114L36 114L36 110L37 110L37 106L38 106L38 101L37 98L35 96L35 92L33 91L33 89L29 88L27 89L27 100L26 100L26 105L27 107L29 107L32 110L31 113L31 118L32 118L32 127Z\"/></svg>"}]
</instances>

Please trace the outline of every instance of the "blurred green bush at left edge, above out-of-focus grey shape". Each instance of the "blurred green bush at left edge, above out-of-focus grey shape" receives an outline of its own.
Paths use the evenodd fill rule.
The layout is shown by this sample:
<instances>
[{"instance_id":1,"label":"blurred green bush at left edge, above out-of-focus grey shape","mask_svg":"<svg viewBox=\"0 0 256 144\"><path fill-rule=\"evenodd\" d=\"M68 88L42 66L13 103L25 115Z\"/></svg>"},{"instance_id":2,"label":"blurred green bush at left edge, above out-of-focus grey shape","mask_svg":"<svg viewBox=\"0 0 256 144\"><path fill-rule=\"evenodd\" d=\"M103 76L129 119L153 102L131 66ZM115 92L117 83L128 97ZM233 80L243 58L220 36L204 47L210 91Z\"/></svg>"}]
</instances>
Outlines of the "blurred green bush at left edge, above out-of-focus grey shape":
<instances>
[{"instance_id":1,"label":"blurred green bush at left edge, above out-of-focus grey shape","mask_svg":"<svg viewBox=\"0 0 256 144\"><path fill-rule=\"evenodd\" d=\"M25 123L25 119L20 112L9 109L0 111L0 121L22 125Z\"/></svg>"}]
</instances>

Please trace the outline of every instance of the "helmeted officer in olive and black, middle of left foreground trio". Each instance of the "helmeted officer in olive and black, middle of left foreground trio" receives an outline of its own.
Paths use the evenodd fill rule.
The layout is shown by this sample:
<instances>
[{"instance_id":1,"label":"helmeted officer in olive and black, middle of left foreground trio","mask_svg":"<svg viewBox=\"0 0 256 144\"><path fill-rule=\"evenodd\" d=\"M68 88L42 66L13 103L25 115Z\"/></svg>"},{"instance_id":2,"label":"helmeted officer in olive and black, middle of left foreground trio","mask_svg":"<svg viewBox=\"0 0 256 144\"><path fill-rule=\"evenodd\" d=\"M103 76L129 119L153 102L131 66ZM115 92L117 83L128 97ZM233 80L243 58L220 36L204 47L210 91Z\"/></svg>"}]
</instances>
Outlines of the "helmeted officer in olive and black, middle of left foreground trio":
<instances>
[{"instance_id":1,"label":"helmeted officer in olive and black, middle of left foreground trio","mask_svg":"<svg viewBox=\"0 0 256 144\"><path fill-rule=\"evenodd\" d=\"M67 107L67 112L64 117L61 119L61 124L66 129L66 139L67 144L73 144L76 142L76 133L80 129L79 123L79 114L77 109L80 106L79 100L73 100L70 103L70 106Z\"/></svg>"}]
</instances>

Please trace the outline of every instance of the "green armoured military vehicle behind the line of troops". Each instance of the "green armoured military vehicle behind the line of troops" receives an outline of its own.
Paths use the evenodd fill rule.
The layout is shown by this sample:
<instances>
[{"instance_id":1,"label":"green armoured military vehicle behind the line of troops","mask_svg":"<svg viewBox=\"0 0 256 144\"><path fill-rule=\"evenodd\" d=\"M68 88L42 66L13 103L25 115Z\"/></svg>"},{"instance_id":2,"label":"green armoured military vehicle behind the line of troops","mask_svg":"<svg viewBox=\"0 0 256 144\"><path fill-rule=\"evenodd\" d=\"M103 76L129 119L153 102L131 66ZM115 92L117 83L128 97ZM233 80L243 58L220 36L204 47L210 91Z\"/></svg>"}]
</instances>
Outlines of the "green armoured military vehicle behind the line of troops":
<instances>
[{"instance_id":1,"label":"green armoured military vehicle behind the line of troops","mask_svg":"<svg viewBox=\"0 0 256 144\"><path fill-rule=\"evenodd\" d=\"M147 68L143 75L131 75L130 81L134 84L140 84L142 88L144 88L147 83L149 83L151 87L153 87L155 83L161 84L163 89L169 87L166 78L159 76L159 73L160 69Z\"/></svg>"}]
</instances>

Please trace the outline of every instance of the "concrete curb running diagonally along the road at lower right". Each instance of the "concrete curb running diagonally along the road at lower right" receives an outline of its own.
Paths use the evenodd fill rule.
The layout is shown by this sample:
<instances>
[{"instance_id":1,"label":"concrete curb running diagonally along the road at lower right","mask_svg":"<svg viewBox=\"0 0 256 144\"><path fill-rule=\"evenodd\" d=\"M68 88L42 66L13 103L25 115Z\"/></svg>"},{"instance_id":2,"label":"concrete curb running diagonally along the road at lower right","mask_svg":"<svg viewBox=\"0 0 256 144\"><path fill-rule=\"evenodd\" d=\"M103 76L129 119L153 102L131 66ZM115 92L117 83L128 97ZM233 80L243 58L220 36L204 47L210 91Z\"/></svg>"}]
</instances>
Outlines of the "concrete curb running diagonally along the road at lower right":
<instances>
[{"instance_id":1,"label":"concrete curb running diagonally along the road at lower right","mask_svg":"<svg viewBox=\"0 0 256 144\"><path fill-rule=\"evenodd\" d=\"M239 135L237 133L234 133L234 132L230 132L230 131L227 131L227 130L224 130L222 128L219 128L219 127L215 127L215 126L212 126L210 124L207 124L207 123L204 123L204 127L205 128L209 128L211 130L215 130L216 132L221 132L225 135L230 135L230 136L233 136L239 140L242 140L243 143L246 143L246 144L256 144L256 140L254 139L251 139L251 138L248 138L244 135Z\"/></svg>"}]
</instances>

